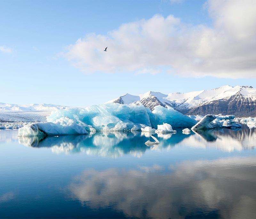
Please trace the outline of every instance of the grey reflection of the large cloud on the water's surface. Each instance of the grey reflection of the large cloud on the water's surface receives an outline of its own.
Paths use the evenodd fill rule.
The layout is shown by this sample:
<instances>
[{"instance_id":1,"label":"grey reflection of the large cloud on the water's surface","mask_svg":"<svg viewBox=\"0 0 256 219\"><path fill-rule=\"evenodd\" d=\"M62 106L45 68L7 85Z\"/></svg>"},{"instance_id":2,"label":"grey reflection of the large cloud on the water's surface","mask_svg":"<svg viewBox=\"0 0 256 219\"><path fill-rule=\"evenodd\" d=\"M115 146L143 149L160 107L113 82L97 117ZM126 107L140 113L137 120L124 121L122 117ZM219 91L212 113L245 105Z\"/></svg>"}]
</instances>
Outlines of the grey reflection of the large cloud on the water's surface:
<instances>
[{"instance_id":1,"label":"grey reflection of the large cloud on the water's surface","mask_svg":"<svg viewBox=\"0 0 256 219\"><path fill-rule=\"evenodd\" d=\"M85 170L68 186L92 208L114 207L139 218L255 218L256 160L185 161L168 170Z\"/></svg>"}]
</instances>

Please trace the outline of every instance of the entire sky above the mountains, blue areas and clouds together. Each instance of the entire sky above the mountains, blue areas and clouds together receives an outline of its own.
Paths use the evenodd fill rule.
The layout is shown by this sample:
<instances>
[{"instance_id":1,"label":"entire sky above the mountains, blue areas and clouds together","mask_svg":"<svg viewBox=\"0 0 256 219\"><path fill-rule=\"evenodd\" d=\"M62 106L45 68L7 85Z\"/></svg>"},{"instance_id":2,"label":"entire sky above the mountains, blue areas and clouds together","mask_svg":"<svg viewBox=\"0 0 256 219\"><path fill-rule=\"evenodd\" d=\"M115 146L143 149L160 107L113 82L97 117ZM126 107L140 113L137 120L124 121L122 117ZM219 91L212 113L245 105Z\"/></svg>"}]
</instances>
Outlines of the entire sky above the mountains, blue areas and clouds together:
<instances>
[{"instance_id":1,"label":"entire sky above the mountains, blue areas and clouds together","mask_svg":"<svg viewBox=\"0 0 256 219\"><path fill-rule=\"evenodd\" d=\"M0 102L255 87L255 36L250 0L0 1Z\"/></svg>"}]
</instances>

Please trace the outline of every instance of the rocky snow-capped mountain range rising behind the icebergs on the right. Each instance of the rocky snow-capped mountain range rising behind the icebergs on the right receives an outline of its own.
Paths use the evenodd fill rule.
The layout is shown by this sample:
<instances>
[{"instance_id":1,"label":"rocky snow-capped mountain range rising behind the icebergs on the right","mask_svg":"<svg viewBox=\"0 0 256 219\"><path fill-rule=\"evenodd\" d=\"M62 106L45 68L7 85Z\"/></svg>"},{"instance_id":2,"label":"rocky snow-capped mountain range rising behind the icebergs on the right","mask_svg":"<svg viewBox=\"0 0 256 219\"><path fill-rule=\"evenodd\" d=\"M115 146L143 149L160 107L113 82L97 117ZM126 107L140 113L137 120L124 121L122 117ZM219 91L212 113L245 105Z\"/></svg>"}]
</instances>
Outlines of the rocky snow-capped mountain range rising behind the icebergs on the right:
<instances>
[{"instance_id":1,"label":"rocky snow-capped mountain range rising behind the icebergs on the right","mask_svg":"<svg viewBox=\"0 0 256 219\"><path fill-rule=\"evenodd\" d=\"M235 114L236 116L256 115L256 89L251 86L225 85L212 90L170 94L149 91L137 96L126 94L108 102L143 104L151 110L157 105L167 105L181 113L191 115L210 113Z\"/></svg>"}]
</instances>

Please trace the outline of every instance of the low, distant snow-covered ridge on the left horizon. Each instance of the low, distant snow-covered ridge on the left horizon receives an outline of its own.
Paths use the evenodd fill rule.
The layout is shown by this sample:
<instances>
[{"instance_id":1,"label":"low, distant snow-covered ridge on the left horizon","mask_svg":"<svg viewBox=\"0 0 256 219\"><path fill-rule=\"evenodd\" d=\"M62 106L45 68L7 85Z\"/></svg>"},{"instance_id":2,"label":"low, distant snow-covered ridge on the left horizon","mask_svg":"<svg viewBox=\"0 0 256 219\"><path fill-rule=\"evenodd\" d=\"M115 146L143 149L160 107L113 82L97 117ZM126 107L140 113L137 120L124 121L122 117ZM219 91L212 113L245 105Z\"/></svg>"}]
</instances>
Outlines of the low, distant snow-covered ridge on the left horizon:
<instances>
[{"instance_id":1,"label":"low, distant snow-covered ridge on the left horizon","mask_svg":"<svg viewBox=\"0 0 256 219\"><path fill-rule=\"evenodd\" d=\"M52 111L55 109L65 109L67 106L60 106L54 104L7 104L0 103L0 111L11 110L11 111Z\"/></svg>"}]
</instances>

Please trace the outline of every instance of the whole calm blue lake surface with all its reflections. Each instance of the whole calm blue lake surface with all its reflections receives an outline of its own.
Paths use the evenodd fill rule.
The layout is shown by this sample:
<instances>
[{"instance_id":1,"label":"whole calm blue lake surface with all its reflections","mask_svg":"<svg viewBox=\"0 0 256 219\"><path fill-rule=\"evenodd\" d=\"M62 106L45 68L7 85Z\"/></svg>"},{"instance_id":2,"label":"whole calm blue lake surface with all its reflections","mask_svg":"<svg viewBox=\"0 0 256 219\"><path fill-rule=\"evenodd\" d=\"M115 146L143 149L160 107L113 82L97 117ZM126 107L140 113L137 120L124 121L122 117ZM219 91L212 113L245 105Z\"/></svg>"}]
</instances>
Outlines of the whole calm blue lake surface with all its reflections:
<instances>
[{"instance_id":1,"label":"whole calm blue lake surface with all its reflections","mask_svg":"<svg viewBox=\"0 0 256 219\"><path fill-rule=\"evenodd\" d=\"M0 218L256 218L256 129L18 138L0 130ZM157 137L157 135L155 135Z\"/></svg>"}]
</instances>

